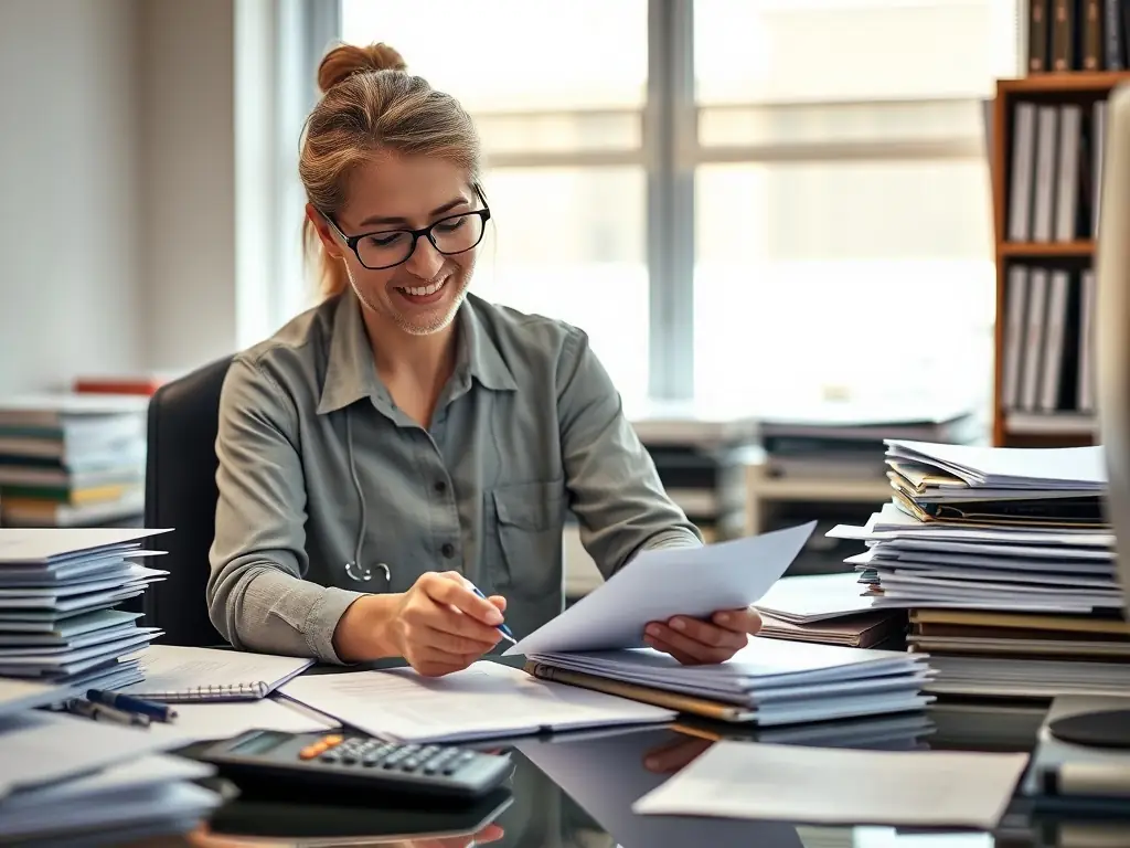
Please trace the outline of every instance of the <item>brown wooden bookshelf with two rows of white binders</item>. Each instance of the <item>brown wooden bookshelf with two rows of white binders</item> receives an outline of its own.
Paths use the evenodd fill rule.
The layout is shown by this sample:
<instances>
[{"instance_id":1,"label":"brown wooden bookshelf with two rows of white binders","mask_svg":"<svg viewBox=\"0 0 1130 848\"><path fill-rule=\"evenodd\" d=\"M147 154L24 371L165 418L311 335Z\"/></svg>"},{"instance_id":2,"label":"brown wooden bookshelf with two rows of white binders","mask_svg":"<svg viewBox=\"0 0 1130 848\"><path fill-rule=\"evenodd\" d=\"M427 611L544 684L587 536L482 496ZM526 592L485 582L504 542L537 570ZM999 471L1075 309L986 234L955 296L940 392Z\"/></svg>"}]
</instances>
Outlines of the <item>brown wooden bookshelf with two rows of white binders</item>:
<instances>
[{"instance_id":1,"label":"brown wooden bookshelf with two rows of white binders","mask_svg":"<svg viewBox=\"0 0 1130 848\"><path fill-rule=\"evenodd\" d=\"M1093 444L1093 275L1104 103L1130 71L997 83L993 443Z\"/></svg>"}]
</instances>

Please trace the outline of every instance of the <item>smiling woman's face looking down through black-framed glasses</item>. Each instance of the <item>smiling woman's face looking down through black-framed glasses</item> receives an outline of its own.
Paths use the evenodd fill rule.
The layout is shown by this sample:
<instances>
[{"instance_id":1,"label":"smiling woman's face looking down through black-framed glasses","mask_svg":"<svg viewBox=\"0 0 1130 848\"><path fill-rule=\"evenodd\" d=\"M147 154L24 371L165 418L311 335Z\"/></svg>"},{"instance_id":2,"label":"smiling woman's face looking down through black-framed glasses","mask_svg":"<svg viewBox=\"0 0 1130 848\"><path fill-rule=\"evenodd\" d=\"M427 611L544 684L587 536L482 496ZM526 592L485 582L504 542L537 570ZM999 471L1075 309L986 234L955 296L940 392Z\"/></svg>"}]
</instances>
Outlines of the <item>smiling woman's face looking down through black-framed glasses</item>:
<instances>
[{"instance_id":1,"label":"smiling woman's face looking down through black-framed glasses","mask_svg":"<svg viewBox=\"0 0 1130 848\"><path fill-rule=\"evenodd\" d=\"M357 245L365 259L327 228L337 253L345 259L354 291L373 313L414 336L445 329L455 317L475 270L477 246L445 256L427 237L416 240L411 256L391 268L412 244L403 230L423 230L440 223L433 235L449 253L480 233L476 216L452 218L480 208L467 174L436 157L392 154L358 167L349 182L348 200L336 222L346 235L366 234ZM444 220L449 219L449 220ZM373 234L373 235L368 235Z\"/></svg>"}]
</instances>

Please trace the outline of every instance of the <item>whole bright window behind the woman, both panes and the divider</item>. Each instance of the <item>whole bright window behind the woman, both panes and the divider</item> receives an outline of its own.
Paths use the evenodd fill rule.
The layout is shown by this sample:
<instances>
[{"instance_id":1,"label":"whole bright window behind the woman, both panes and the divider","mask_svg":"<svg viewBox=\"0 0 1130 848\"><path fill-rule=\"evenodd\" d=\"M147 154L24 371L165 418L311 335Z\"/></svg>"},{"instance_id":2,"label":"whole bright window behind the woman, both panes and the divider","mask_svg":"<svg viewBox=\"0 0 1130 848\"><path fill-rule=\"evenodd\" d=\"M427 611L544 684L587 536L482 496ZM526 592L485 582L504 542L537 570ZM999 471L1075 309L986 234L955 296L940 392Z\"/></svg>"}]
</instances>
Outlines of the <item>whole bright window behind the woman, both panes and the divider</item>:
<instances>
[{"instance_id":1,"label":"whole bright window behind the woman, both panes and the divider","mask_svg":"<svg viewBox=\"0 0 1130 848\"><path fill-rule=\"evenodd\" d=\"M479 294L585 329L629 403L762 409L988 387L1016 6L341 0L341 32L475 115Z\"/></svg>"}]
</instances>

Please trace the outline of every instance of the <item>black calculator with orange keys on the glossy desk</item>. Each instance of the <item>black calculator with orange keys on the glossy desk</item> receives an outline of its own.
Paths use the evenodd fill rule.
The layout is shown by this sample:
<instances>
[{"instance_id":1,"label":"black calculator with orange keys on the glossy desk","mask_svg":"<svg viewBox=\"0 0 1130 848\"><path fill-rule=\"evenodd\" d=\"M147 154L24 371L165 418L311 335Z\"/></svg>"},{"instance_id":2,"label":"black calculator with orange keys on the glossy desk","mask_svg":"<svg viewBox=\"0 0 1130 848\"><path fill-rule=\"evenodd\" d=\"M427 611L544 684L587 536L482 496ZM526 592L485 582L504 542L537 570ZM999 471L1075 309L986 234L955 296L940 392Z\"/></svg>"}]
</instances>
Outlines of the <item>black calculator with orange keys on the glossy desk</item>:
<instances>
[{"instance_id":1,"label":"black calculator with orange keys on the glossy desk","mask_svg":"<svg viewBox=\"0 0 1130 848\"><path fill-rule=\"evenodd\" d=\"M513 771L505 754L324 732L249 730L209 745L197 756L241 788L250 781L289 784L303 791L324 788L467 799L498 787Z\"/></svg>"}]
</instances>

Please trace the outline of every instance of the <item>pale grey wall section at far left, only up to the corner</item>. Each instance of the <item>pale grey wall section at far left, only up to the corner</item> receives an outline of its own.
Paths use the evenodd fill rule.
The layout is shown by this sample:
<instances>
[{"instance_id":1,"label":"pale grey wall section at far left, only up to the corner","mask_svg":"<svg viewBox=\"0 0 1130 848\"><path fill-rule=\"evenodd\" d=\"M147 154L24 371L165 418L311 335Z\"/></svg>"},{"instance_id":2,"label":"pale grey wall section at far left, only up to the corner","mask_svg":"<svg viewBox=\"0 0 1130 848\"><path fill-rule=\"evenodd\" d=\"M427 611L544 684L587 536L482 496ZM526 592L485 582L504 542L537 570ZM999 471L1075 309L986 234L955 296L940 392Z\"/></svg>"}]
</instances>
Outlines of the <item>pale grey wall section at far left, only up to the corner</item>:
<instances>
[{"instance_id":1,"label":"pale grey wall section at far left, only up to the corner","mask_svg":"<svg viewBox=\"0 0 1130 848\"><path fill-rule=\"evenodd\" d=\"M0 2L0 395L146 362L136 23Z\"/></svg>"}]
</instances>

